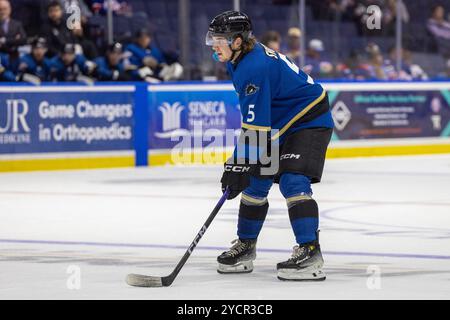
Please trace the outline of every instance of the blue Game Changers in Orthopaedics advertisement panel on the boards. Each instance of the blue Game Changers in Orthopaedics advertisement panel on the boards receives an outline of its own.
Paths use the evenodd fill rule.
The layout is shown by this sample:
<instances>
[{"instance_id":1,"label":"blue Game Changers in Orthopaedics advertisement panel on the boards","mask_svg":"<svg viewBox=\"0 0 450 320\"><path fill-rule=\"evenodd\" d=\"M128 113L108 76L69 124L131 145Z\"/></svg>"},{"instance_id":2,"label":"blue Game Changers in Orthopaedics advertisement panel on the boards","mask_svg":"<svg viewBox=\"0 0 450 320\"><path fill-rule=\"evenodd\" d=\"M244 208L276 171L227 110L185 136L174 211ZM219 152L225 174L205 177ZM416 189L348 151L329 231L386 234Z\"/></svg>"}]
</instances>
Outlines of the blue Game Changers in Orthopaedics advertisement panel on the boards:
<instances>
[{"instance_id":1,"label":"blue Game Changers in Orthopaedics advertisement panel on the boards","mask_svg":"<svg viewBox=\"0 0 450 320\"><path fill-rule=\"evenodd\" d=\"M1 87L0 154L133 150L134 87Z\"/></svg>"}]
</instances>

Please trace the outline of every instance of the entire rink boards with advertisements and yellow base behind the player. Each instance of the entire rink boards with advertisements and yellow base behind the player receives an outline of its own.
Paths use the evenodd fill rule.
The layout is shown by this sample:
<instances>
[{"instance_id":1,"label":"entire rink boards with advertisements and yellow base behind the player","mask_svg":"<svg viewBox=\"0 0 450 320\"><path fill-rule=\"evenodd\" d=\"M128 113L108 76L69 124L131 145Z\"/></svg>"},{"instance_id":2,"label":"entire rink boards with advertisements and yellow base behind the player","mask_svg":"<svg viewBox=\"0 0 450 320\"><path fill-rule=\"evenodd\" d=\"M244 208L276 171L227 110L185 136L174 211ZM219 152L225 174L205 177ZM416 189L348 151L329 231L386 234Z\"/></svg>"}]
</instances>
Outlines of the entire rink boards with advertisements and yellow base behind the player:
<instances>
[{"instance_id":1,"label":"entire rink boards with advertisements and yellow base behind the player","mask_svg":"<svg viewBox=\"0 0 450 320\"><path fill-rule=\"evenodd\" d=\"M450 82L323 86L335 122L328 157L450 152ZM180 163L177 148L227 156L240 125L230 82L5 85L0 171ZM439 141L394 145L433 137Z\"/></svg>"}]
</instances>

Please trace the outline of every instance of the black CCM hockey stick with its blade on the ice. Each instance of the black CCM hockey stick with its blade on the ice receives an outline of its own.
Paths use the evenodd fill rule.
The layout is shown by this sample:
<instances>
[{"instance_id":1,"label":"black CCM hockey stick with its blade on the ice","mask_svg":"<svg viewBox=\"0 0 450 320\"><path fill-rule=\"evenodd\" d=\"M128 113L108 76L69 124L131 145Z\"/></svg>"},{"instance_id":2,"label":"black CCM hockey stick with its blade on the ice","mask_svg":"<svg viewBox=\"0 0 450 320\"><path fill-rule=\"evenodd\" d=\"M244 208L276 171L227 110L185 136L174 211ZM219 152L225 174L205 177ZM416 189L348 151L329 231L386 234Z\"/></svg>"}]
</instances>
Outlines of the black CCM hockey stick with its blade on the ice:
<instances>
[{"instance_id":1,"label":"black CCM hockey stick with its blade on the ice","mask_svg":"<svg viewBox=\"0 0 450 320\"><path fill-rule=\"evenodd\" d=\"M206 229L208 229L209 225L216 217L220 208L222 208L222 205L225 203L225 200L228 198L229 194L230 194L230 190L229 189L225 190L225 192L223 193L219 202L216 204L216 207L211 212L208 219L206 219L205 224L200 229L200 231L197 233L197 235L195 236L191 245L189 246L186 253L184 254L183 258L181 258L180 262L178 262L177 266L175 267L175 270L173 270L173 272L170 275L168 275L166 277L153 277L153 276L145 276L145 275L141 275L141 274L131 273L127 276L126 282L130 286L135 286L135 287L168 287L168 286L170 286L173 283L173 281L175 280L175 278L177 277L178 273L181 271L181 268L183 268L184 264L191 256L192 251L194 251L194 249L197 246L197 244L199 243L200 239L205 234Z\"/></svg>"}]
</instances>

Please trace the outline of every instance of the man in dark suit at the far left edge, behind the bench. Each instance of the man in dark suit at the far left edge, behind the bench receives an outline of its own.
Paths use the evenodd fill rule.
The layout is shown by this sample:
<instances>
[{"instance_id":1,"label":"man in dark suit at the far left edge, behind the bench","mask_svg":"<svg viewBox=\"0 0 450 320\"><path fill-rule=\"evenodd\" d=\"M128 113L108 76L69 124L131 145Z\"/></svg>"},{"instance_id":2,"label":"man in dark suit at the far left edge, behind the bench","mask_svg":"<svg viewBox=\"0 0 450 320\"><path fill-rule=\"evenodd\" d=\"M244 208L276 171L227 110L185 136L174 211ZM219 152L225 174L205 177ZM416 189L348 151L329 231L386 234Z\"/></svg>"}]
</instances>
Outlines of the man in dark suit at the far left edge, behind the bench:
<instances>
[{"instance_id":1,"label":"man in dark suit at the far left edge, behind the bench","mask_svg":"<svg viewBox=\"0 0 450 320\"><path fill-rule=\"evenodd\" d=\"M26 39L22 23L11 19L11 4L7 0L0 0L0 52L9 55L11 67L17 67L18 47L24 45Z\"/></svg>"}]
</instances>

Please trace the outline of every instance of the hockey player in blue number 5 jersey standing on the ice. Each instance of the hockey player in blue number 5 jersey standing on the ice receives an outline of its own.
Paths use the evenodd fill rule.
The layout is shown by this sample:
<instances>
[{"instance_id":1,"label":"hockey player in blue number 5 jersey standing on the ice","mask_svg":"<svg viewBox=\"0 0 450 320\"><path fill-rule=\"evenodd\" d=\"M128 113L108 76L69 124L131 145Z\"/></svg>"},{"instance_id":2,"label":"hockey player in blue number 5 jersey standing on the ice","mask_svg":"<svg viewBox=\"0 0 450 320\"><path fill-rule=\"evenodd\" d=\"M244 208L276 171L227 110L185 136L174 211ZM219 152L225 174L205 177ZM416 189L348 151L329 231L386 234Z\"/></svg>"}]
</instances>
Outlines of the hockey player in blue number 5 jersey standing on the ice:
<instances>
[{"instance_id":1,"label":"hockey player in blue number 5 jersey standing on the ice","mask_svg":"<svg viewBox=\"0 0 450 320\"><path fill-rule=\"evenodd\" d=\"M292 257L277 264L278 278L324 280L319 210L311 184L321 180L333 130L327 94L286 56L256 42L244 13L227 11L216 16L206 44L212 46L214 59L226 63L242 113L241 137L221 179L222 190L231 191L229 199L242 192L239 238L217 258L218 272L253 270L256 241L269 208L267 195L275 182L286 198L297 242ZM249 142L245 138L249 133L262 138L256 144ZM278 170L265 174L267 165L261 155L264 149L273 151L277 146L279 158L272 161L279 160Z\"/></svg>"}]
</instances>

